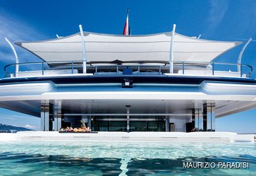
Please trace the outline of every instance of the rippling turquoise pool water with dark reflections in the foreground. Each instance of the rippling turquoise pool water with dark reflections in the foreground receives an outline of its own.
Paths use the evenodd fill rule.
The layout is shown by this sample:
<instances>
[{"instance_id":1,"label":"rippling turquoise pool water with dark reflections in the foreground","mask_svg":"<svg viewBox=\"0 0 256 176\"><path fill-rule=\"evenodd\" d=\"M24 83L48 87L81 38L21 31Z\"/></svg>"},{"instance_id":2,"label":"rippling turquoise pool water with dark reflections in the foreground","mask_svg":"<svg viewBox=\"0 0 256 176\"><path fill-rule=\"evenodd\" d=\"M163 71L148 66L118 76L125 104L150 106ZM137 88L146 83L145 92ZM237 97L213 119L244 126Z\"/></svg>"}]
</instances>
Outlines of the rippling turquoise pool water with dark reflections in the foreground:
<instances>
[{"instance_id":1,"label":"rippling turquoise pool water with dark reflections in the foreground","mask_svg":"<svg viewBox=\"0 0 256 176\"><path fill-rule=\"evenodd\" d=\"M184 168L186 162L215 168ZM249 168L220 168L248 163ZM0 175L255 175L255 143L39 142L0 144Z\"/></svg>"}]
</instances>

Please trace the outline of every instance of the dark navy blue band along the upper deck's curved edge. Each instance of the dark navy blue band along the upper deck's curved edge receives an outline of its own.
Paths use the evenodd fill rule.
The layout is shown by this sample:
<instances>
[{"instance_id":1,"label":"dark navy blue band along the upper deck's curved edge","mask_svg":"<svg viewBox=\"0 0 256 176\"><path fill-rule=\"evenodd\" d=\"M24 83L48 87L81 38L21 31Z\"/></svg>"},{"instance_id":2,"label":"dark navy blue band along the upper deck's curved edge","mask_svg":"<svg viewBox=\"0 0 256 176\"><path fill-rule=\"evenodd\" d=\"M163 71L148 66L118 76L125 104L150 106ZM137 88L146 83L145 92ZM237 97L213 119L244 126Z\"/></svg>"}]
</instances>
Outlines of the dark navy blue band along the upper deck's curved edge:
<instances>
[{"instance_id":1,"label":"dark navy blue band along the upper deck's curved edge","mask_svg":"<svg viewBox=\"0 0 256 176\"><path fill-rule=\"evenodd\" d=\"M59 75L44 75L40 77L12 77L0 79L1 83L29 83L37 81L51 81L56 84L86 84L86 83L122 83L123 78L130 78L133 83L165 83L165 84L187 84L199 85L203 81L214 81L219 83L255 83L256 80L252 78L243 77L210 77L210 76L189 76L189 75L133 75L133 74L59 74Z\"/></svg>"}]
</instances>

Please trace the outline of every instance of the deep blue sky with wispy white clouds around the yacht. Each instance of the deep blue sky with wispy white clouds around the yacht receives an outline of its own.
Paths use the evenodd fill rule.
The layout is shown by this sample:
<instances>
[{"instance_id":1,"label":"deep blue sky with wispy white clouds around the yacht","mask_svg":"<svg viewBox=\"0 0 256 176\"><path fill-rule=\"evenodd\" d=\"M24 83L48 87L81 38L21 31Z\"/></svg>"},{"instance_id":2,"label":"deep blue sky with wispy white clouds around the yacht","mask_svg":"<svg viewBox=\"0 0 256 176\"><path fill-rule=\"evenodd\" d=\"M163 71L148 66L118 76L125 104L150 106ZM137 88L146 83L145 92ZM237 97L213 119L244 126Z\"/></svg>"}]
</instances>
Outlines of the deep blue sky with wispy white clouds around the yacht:
<instances>
[{"instance_id":1,"label":"deep blue sky with wispy white clouds around the yacht","mask_svg":"<svg viewBox=\"0 0 256 176\"><path fill-rule=\"evenodd\" d=\"M83 30L122 34L127 8L132 35L172 30L201 39L246 42L242 58L256 70L256 1L254 0L0 0L0 77L14 56L5 42L32 41L69 36ZM255 39L255 40L254 40ZM242 46L216 61L236 63ZM15 46L20 61L39 58ZM252 76L255 78L256 71ZM256 110L216 119L217 131L256 133ZM0 123L40 130L40 119L0 108Z\"/></svg>"}]
</instances>

